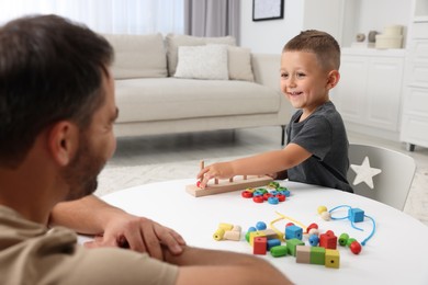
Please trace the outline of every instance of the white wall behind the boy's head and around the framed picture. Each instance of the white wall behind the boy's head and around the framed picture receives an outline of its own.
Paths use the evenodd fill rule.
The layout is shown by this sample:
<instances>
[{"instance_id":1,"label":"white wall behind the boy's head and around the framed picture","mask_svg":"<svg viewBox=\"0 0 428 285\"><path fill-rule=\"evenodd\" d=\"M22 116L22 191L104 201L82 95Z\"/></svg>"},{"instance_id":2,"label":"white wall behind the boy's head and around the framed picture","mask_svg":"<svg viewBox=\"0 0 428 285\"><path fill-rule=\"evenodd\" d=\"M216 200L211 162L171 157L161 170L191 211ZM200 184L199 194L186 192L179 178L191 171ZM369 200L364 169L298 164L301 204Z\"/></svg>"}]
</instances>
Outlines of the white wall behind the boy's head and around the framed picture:
<instances>
[{"instance_id":1,"label":"white wall behind the boy's head and around the framed picture","mask_svg":"<svg viewBox=\"0 0 428 285\"><path fill-rule=\"evenodd\" d=\"M317 29L350 46L357 33L407 25L409 0L285 0L284 19L252 22L252 0L240 1L240 45L255 53L279 54L302 30Z\"/></svg>"}]
</instances>

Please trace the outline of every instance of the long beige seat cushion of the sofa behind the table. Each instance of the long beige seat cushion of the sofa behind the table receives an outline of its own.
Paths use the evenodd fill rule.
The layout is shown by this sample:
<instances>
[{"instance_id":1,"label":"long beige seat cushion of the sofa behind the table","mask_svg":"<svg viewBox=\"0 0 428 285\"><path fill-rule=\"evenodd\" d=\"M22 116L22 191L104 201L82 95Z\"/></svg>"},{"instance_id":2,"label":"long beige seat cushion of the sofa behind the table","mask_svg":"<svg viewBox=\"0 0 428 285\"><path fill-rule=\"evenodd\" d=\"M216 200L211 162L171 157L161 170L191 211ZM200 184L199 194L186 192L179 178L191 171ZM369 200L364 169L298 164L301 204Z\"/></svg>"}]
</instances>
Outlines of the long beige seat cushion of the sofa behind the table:
<instances>
[{"instance_id":1,"label":"long beige seat cushion of the sofa behind the table","mask_svg":"<svg viewBox=\"0 0 428 285\"><path fill-rule=\"evenodd\" d=\"M247 81L116 80L119 123L278 113L280 100L275 90Z\"/></svg>"}]
</instances>

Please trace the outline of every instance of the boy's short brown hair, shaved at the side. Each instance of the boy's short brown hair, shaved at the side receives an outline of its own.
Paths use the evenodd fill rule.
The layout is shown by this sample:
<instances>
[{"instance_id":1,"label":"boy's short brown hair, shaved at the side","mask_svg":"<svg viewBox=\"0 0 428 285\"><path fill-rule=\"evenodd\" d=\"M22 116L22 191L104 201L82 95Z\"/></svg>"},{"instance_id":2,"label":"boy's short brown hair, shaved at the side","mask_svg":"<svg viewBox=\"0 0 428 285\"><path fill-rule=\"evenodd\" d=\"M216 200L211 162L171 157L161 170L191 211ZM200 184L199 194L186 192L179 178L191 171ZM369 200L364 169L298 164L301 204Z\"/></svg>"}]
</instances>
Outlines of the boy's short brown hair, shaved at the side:
<instances>
[{"instance_id":1,"label":"boy's short brown hair, shaved at the side","mask_svg":"<svg viewBox=\"0 0 428 285\"><path fill-rule=\"evenodd\" d=\"M323 69L339 70L340 46L328 33L307 30L290 39L282 49L284 52L314 53Z\"/></svg>"}]
</instances>

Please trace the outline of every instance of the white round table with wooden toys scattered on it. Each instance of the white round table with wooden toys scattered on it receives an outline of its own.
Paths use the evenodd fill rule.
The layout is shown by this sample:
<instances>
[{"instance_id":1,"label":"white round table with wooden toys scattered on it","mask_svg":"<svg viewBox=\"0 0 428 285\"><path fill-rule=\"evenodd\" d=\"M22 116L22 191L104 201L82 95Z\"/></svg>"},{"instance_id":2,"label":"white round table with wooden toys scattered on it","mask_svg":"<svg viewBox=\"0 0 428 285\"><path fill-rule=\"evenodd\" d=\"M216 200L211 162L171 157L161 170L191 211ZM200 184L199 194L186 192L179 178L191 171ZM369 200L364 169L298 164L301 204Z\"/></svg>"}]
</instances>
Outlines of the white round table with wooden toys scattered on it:
<instances>
[{"instance_id":1,"label":"white round table with wooden toys scattered on it","mask_svg":"<svg viewBox=\"0 0 428 285\"><path fill-rule=\"evenodd\" d=\"M146 184L119 191L102 198L128 213L151 218L180 232L188 244L209 249L232 250L252 254L245 241L245 232L258 221L269 224L279 218L278 213L308 226L316 223L320 232L333 230L337 237L347 232L358 241L372 231L372 223L365 218L351 227L349 219L325 221L317 213L320 205L331 209L339 205L360 208L374 218L374 236L359 255L338 246L340 267L296 263L295 258L273 258L268 252L258 255L269 260L296 284L428 284L428 227L419 220L379 202L333 189L282 181L291 196L278 205L258 204L243 198L241 191L194 197L185 192L193 179ZM333 212L333 217L347 216L347 208ZM274 226L284 231L290 220ZM218 224L241 226L240 241L213 239ZM308 246L307 238L303 241ZM260 273L262 274L262 272Z\"/></svg>"}]
</instances>

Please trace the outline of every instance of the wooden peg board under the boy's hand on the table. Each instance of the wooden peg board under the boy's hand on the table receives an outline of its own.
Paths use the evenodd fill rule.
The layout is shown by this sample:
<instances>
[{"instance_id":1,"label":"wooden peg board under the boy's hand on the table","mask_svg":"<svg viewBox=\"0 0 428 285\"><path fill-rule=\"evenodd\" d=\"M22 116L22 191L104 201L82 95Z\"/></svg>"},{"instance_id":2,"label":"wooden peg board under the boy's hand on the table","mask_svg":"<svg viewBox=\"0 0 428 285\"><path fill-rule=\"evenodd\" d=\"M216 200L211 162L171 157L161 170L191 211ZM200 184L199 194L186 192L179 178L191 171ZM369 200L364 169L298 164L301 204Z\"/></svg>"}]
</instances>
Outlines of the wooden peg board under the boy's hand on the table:
<instances>
[{"instance_id":1,"label":"wooden peg board under the boy's hand on the table","mask_svg":"<svg viewBox=\"0 0 428 285\"><path fill-rule=\"evenodd\" d=\"M200 167L201 169L204 168L203 160L201 161ZM273 179L268 175L263 175L263 176L243 175L241 178L234 176L225 181L218 181L217 179L215 179L214 184L206 185L205 189L201 189L200 187L201 181L198 181L194 185L187 185L185 191L195 197L201 197L201 196L233 192L233 191L243 190L247 187L258 187L258 186L267 185L272 181Z\"/></svg>"}]
</instances>

